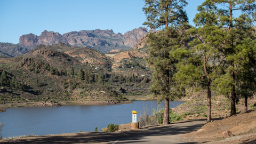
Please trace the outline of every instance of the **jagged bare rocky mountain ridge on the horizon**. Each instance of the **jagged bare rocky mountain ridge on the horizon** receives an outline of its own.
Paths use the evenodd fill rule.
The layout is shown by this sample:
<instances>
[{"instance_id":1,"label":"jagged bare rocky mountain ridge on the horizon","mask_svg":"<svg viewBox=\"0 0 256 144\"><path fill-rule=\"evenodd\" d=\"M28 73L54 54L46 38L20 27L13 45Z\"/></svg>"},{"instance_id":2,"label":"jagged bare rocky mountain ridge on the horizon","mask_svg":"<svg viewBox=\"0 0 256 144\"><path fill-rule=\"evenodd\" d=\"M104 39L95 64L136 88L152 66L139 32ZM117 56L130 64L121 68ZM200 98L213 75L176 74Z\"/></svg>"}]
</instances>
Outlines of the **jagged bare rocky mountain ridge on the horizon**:
<instances>
[{"instance_id":1,"label":"jagged bare rocky mountain ridge on the horizon","mask_svg":"<svg viewBox=\"0 0 256 144\"><path fill-rule=\"evenodd\" d=\"M100 29L71 31L63 35L44 30L40 36L34 34L22 35L19 44L31 49L39 44L53 45L62 42L71 46L92 47L106 53L114 49L131 49L138 39L147 33L147 28L142 27L128 31L124 35L121 33L115 34L113 30Z\"/></svg>"}]
</instances>

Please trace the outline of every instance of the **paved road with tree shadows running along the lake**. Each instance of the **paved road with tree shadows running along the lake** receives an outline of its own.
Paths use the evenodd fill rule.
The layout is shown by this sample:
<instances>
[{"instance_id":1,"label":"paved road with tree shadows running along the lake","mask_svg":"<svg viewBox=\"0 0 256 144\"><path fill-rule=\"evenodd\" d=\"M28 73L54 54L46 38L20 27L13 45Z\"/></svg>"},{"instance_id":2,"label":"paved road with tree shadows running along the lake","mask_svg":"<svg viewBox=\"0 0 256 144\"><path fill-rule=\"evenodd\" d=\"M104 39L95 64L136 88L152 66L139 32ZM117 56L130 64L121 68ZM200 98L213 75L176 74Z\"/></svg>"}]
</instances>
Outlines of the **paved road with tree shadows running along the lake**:
<instances>
[{"instance_id":1,"label":"paved road with tree shadows running along the lake","mask_svg":"<svg viewBox=\"0 0 256 144\"><path fill-rule=\"evenodd\" d=\"M190 143L180 137L200 129L205 121L179 122L169 125L149 126L123 132L82 132L38 137L0 140L0 143Z\"/></svg>"}]
</instances>

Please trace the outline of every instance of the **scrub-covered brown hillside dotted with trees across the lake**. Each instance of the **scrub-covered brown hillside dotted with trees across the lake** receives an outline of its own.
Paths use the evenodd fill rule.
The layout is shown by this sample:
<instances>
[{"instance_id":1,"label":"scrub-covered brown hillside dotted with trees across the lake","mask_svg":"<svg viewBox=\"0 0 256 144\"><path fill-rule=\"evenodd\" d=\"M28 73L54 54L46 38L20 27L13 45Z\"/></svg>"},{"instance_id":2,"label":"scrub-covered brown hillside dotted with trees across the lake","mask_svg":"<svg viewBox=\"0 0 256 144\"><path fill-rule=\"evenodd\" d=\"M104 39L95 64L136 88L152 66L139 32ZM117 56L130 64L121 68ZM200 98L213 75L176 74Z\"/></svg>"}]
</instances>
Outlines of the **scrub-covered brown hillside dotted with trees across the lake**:
<instances>
[{"instance_id":1,"label":"scrub-covered brown hillside dotted with trees across the lake","mask_svg":"<svg viewBox=\"0 0 256 144\"><path fill-rule=\"evenodd\" d=\"M19 57L0 58L0 103L125 102L126 95L148 94L152 73L141 60L123 59L125 67L114 68L113 58L94 49L38 45Z\"/></svg>"}]
</instances>

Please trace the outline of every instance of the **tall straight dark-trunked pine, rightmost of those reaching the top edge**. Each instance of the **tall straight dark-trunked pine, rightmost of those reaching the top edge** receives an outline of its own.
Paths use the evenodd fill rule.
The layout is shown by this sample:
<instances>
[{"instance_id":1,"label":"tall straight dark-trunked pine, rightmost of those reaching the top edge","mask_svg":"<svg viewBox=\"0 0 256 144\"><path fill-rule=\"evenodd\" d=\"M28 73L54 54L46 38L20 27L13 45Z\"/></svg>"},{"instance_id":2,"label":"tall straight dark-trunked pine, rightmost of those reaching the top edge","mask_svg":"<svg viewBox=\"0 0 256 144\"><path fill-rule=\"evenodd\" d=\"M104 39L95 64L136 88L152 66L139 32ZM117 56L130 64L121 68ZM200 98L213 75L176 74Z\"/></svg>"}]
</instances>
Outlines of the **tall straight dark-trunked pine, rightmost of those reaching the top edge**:
<instances>
[{"instance_id":1,"label":"tall straight dark-trunked pine, rightmost of those reaching the top edge","mask_svg":"<svg viewBox=\"0 0 256 144\"><path fill-rule=\"evenodd\" d=\"M237 61L239 51L243 49L237 49L239 45L242 44L244 39L253 37L253 22L256 20L256 4L255 1L251 0L219 0L219 1L210 1L207 0L204 3L205 5L214 4L221 5L222 7L217 7L212 10L216 11L218 14L219 25L226 30L227 36L222 39L222 45L227 47L226 49L226 63L227 68L224 69L225 76L221 79L225 80L225 83L222 81L222 84L217 84L218 92L225 94L227 97L231 98L231 110L230 116L236 114L236 101L237 101L237 87L236 79L238 78L237 71L239 71L241 66L241 61ZM236 11L241 12L238 17L234 17ZM238 14L237 14L238 15ZM220 79L219 79L220 80ZM219 85L219 86L218 86ZM227 88L223 91L221 85L225 85ZM227 94L229 92L229 94Z\"/></svg>"}]
</instances>

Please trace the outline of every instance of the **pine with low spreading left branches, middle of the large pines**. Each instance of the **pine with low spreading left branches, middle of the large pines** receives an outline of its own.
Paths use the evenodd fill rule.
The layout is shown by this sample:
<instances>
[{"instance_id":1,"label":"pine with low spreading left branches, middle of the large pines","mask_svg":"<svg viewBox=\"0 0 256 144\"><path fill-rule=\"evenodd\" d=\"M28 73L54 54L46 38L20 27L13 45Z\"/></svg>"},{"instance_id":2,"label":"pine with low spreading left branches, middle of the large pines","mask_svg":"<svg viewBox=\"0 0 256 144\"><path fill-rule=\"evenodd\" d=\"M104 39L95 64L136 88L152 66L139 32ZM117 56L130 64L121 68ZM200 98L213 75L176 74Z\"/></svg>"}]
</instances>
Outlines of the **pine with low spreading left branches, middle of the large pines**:
<instances>
[{"instance_id":1,"label":"pine with low spreading left branches, middle of the large pines","mask_svg":"<svg viewBox=\"0 0 256 144\"><path fill-rule=\"evenodd\" d=\"M191 46L186 61L179 65L175 79L189 87L207 87L207 122L211 121L211 86L212 81L225 66L225 50L222 45L227 35L217 21L218 14L212 10L212 3L198 6L199 13L194 18L197 27L191 28L189 33L195 38L189 43Z\"/></svg>"}]
</instances>

